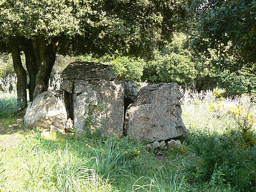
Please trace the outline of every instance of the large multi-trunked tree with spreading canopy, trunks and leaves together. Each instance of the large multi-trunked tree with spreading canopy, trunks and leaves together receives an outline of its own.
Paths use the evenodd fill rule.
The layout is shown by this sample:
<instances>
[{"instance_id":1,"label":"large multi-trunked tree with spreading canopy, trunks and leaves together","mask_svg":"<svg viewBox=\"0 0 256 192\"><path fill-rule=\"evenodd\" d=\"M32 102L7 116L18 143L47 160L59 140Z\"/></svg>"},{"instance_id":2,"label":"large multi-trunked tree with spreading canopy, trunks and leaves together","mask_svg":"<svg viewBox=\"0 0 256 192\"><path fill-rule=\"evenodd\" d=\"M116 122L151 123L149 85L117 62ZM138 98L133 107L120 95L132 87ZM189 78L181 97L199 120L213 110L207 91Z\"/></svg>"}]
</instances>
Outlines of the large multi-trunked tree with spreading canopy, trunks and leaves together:
<instances>
[{"instance_id":1,"label":"large multi-trunked tree with spreading canopy, trunks and leaves together","mask_svg":"<svg viewBox=\"0 0 256 192\"><path fill-rule=\"evenodd\" d=\"M184 1L185 2L185 1ZM56 54L120 52L150 57L168 42L186 3L171 0L2 0L0 52L12 52L18 108L47 90Z\"/></svg>"}]
</instances>

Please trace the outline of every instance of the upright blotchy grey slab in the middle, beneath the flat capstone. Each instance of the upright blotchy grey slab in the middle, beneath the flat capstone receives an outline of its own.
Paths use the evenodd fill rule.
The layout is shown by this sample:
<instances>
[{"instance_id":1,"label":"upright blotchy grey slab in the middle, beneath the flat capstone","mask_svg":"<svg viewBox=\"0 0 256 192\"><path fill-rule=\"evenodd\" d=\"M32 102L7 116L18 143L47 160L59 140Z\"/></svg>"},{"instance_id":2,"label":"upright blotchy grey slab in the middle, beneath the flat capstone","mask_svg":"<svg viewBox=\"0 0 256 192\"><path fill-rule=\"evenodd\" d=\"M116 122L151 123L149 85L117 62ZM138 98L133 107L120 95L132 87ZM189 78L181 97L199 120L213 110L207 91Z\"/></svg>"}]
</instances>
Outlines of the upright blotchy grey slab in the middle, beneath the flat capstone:
<instances>
[{"instance_id":1,"label":"upright blotchy grey slab in the middle, beneath the flat capstone","mask_svg":"<svg viewBox=\"0 0 256 192\"><path fill-rule=\"evenodd\" d=\"M122 83L93 80L74 83L74 127L76 132L100 129L101 136L120 136L124 124Z\"/></svg>"}]
</instances>

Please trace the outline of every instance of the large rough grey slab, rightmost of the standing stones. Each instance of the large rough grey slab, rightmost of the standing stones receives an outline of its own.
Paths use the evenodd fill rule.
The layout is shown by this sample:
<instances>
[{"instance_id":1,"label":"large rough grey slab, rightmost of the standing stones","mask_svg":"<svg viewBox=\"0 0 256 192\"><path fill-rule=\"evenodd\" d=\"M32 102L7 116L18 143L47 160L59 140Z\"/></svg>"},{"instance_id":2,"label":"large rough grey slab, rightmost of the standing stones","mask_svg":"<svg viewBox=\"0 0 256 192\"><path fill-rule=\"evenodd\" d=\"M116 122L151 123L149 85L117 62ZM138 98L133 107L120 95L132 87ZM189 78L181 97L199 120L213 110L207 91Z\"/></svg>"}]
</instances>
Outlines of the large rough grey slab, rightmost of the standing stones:
<instances>
[{"instance_id":1,"label":"large rough grey slab, rightmost of the standing stones","mask_svg":"<svg viewBox=\"0 0 256 192\"><path fill-rule=\"evenodd\" d=\"M176 83L141 88L125 116L125 131L133 140L163 141L186 134L182 122L181 93Z\"/></svg>"}]
</instances>

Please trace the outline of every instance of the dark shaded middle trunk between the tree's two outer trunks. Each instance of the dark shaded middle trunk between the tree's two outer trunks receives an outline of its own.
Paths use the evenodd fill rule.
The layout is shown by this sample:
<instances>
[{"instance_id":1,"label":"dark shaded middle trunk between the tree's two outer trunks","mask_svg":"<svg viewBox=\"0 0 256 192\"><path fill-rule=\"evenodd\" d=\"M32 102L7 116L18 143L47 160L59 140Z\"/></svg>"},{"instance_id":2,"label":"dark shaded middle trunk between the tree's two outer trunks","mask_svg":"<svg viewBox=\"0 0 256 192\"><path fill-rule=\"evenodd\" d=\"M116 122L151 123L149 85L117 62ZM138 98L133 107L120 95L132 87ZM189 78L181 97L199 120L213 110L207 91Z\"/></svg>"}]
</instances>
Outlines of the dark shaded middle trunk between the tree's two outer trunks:
<instances>
[{"instance_id":1,"label":"dark shaded middle trunk between the tree's two outer trunks","mask_svg":"<svg viewBox=\"0 0 256 192\"><path fill-rule=\"evenodd\" d=\"M24 51L25 54L26 67L29 74L29 100L33 101L33 94L36 86L36 74L38 72L38 65L36 65L36 55L31 39L22 38L20 42L22 44L22 51Z\"/></svg>"}]
</instances>

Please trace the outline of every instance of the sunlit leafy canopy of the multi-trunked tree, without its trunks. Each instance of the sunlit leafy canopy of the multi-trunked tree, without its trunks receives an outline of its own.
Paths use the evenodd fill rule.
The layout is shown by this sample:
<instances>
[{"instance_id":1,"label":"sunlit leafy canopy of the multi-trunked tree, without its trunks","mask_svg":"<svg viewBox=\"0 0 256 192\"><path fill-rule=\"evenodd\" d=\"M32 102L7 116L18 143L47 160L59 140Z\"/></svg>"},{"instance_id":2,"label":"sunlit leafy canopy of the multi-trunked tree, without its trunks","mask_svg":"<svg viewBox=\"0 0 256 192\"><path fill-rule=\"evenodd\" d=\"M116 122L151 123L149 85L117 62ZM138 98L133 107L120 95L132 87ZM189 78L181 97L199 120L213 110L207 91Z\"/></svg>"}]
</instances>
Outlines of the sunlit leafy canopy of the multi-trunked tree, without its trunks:
<instances>
[{"instance_id":1,"label":"sunlit leafy canopy of the multi-trunked tree, without its trunks","mask_svg":"<svg viewBox=\"0 0 256 192\"><path fill-rule=\"evenodd\" d=\"M166 0L3 0L0 37L3 44L13 36L58 39L62 54L148 54L169 40L185 7Z\"/></svg>"}]
</instances>

